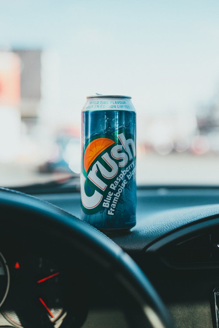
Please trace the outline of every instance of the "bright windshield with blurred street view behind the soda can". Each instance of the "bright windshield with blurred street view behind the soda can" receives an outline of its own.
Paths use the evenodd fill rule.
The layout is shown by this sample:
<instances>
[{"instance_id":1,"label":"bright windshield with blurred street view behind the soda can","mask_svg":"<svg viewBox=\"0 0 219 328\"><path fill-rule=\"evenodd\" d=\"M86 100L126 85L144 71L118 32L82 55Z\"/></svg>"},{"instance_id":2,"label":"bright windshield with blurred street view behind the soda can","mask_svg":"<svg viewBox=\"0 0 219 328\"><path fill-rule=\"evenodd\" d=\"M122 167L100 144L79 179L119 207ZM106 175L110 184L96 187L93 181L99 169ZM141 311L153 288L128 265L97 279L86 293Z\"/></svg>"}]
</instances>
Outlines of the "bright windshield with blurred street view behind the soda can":
<instances>
[{"instance_id":1,"label":"bright windshield with blurred street view behind the soda can","mask_svg":"<svg viewBox=\"0 0 219 328\"><path fill-rule=\"evenodd\" d=\"M139 185L219 185L218 17L216 0L2 2L0 185L79 173L95 93L132 96Z\"/></svg>"}]
</instances>

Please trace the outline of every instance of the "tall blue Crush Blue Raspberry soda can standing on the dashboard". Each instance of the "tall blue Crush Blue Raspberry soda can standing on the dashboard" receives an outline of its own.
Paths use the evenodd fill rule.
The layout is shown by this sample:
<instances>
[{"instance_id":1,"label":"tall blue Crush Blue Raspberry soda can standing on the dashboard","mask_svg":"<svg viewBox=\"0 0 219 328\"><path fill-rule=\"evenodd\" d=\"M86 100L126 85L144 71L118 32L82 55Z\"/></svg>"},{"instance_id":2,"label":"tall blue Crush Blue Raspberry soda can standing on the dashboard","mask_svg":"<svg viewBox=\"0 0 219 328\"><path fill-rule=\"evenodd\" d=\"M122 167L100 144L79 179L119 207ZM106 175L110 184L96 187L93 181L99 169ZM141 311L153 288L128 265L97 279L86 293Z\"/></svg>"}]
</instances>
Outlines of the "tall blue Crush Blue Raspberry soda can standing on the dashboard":
<instances>
[{"instance_id":1,"label":"tall blue Crush Blue Raspberry soda can standing on the dashboard","mask_svg":"<svg viewBox=\"0 0 219 328\"><path fill-rule=\"evenodd\" d=\"M131 97L88 96L82 109L81 218L101 231L136 224L136 112Z\"/></svg>"}]
</instances>

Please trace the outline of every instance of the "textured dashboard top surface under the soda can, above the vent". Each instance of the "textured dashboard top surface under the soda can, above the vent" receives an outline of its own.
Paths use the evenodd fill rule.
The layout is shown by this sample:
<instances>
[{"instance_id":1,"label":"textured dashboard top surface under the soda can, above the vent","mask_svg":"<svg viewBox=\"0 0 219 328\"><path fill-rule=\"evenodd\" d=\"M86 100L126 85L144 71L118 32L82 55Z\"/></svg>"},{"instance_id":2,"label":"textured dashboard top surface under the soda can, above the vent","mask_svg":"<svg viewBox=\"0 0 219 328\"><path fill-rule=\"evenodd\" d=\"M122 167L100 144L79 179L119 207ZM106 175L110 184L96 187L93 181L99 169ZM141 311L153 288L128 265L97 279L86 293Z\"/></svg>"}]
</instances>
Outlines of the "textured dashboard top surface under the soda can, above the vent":
<instances>
[{"instance_id":1,"label":"textured dashboard top surface under the soda can, above the vent","mask_svg":"<svg viewBox=\"0 0 219 328\"><path fill-rule=\"evenodd\" d=\"M35 195L80 217L80 194ZM218 205L217 205L218 204ZM158 188L137 191L137 224L110 237L125 251L142 251L173 230L219 214L218 188Z\"/></svg>"}]
</instances>

